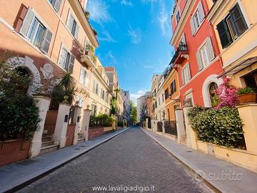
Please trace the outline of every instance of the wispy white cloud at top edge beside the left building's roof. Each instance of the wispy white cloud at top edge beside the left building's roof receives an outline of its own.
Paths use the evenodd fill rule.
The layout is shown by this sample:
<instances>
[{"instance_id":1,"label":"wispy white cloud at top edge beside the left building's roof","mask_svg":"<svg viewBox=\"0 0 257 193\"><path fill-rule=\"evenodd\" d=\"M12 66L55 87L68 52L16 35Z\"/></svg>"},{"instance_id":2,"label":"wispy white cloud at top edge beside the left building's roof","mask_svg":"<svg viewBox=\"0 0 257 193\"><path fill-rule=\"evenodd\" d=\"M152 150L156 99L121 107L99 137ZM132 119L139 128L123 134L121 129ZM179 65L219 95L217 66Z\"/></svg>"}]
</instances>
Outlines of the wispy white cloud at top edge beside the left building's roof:
<instances>
[{"instance_id":1,"label":"wispy white cloud at top edge beside the left building's roof","mask_svg":"<svg viewBox=\"0 0 257 193\"><path fill-rule=\"evenodd\" d=\"M109 14L109 6L105 1L94 0L89 1L87 9L90 13L90 19L96 21L98 24L103 24L105 22L111 21L111 16Z\"/></svg>"}]
</instances>

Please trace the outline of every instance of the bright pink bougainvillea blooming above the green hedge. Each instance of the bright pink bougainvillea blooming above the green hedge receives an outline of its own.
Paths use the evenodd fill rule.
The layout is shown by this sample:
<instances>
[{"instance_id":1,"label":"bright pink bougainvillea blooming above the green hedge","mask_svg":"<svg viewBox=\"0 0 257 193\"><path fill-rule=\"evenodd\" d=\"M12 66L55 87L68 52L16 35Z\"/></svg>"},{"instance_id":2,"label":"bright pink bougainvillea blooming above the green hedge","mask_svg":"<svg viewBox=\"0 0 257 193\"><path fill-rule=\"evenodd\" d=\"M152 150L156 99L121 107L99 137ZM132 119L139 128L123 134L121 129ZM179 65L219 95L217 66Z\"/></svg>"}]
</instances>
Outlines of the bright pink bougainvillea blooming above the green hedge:
<instances>
[{"instance_id":1,"label":"bright pink bougainvillea blooming above the green hedge","mask_svg":"<svg viewBox=\"0 0 257 193\"><path fill-rule=\"evenodd\" d=\"M218 86L217 89L218 99L220 100L220 104L218 104L217 108L220 109L221 107L236 107L238 90L228 84L228 78L224 76L222 79L223 83Z\"/></svg>"}]
</instances>

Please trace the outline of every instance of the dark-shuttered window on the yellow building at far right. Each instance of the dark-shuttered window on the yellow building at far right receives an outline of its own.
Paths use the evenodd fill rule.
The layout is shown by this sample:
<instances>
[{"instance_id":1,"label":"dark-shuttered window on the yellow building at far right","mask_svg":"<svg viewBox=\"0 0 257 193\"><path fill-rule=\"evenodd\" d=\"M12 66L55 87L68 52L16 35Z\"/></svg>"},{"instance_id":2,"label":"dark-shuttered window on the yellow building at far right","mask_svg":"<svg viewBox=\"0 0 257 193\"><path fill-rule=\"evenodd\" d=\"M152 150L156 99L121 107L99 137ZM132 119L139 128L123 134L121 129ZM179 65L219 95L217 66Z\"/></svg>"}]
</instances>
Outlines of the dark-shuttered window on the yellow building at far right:
<instances>
[{"instance_id":1,"label":"dark-shuttered window on the yellow building at far right","mask_svg":"<svg viewBox=\"0 0 257 193\"><path fill-rule=\"evenodd\" d=\"M248 29L246 20L243 17L239 4L236 4L228 12L228 16L217 25L222 48L224 49L229 46L246 29Z\"/></svg>"}]
</instances>

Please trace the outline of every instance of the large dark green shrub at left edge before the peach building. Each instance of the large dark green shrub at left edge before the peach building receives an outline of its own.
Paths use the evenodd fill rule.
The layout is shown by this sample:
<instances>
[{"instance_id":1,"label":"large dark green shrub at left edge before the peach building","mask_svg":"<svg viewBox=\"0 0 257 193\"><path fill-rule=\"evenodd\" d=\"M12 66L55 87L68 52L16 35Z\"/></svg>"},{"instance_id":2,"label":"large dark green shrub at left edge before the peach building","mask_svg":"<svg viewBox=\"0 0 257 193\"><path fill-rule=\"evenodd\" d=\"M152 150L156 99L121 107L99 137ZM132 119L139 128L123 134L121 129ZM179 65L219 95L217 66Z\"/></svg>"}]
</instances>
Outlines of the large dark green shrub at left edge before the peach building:
<instances>
[{"instance_id":1,"label":"large dark green shrub at left edge before the peach building","mask_svg":"<svg viewBox=\"0 0 257 193\"><path fill-rule=\"evenodd\" d=\"M39 109L26 91L31 76L0 61L0 140L28 139L39 128Z\"/></svg>"}]
</instances>

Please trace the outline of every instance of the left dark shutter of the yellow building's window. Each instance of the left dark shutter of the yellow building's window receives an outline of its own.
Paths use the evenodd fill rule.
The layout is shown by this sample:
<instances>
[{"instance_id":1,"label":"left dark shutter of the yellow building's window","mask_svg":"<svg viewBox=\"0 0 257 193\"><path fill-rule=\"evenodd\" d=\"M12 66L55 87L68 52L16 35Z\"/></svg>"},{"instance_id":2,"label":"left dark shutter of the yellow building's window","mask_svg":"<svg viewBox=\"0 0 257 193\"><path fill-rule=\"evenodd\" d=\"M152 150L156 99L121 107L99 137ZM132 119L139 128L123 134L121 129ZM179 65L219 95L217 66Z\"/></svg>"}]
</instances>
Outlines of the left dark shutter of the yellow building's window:
<instances>
[{"instance_id":1,"label":"left dark shutter of the yellow building's window","mask_svg":"<svg viewBox=\"0 0 257 193\"><path fill-rule=\"evenodd\" d=\"M218 30L218 36L220 37L220 40L221 40L221 46L224 49L227 46L229 46L232 42L231 35L229 34L228 26L225 20L222 20L217 25L217 30Z\"/></svg>"}]
</instances>

